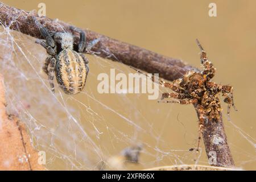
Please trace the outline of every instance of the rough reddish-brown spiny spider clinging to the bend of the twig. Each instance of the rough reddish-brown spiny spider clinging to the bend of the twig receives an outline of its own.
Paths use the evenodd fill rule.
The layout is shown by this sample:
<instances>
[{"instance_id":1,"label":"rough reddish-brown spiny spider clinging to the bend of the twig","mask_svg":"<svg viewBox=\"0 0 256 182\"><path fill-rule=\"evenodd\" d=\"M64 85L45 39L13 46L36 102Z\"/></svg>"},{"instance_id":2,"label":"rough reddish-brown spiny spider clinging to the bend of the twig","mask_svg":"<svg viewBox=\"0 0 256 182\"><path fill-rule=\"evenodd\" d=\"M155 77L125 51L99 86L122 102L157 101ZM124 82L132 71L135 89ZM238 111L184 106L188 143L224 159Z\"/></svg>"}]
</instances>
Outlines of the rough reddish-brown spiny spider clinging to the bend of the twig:
<instances>
[{"instance_id":1,"label":"rough reddish-brown spiny spider clinging to the bend of the twig","mask_svg":"<svg viewBox=\"0 0 256 182\"><path fill-rule=\"evenodd\" d=\"M230 85L218 85L210 80L214 77L215 68L213 64L207 59L207 53L196 39L196 42L201 50L201 66L203 70L199 72L189 71L183 78L179 78L174 81L173 84L165 82L159 79L159 85L169 88L174 93L163 93L161 100L165 98L174 98L171 101L159 101L165 103L178 103L178 104L193 104L199 109L199 140L197 143L197 151L199 150L199 144L201 139L201 133L203 133L205 120L207 122L218 122L220 119L221 105L218 99L218 93L222 93L224 96L224 102L228 104L228 117L230 114L230 106L232 105L235 110L233 101L233 87ZM138 71L138 70L137 70ZM138 71L139 73L142 73ZM152 81L154 81L152 77Z\"/></svg>"}]
</instances>

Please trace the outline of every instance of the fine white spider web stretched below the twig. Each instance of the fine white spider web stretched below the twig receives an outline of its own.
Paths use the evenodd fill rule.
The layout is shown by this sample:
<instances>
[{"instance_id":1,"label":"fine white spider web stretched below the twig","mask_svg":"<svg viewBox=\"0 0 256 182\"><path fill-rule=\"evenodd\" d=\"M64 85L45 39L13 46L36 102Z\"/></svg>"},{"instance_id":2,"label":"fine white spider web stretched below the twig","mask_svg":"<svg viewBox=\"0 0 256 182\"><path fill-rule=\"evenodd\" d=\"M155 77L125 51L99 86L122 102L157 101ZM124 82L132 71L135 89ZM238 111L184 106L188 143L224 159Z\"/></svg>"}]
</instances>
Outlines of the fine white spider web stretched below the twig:
<instances>
[{"instance_id":1,"label":"fine white spider web stretched below the twig","mask_svg":"<svg viewBox=\"0 0 256 182\"><path fill-rule=\"evenodd\" d=\"M147 94L98 93L99 73L109 75L110 68L126 75L135 71L96 55L86 55L90 72L80 94L64 94L56 81L53 94L42 71L46 50L34 38L4 26L0 27L0 67L7 110L26 124L36 150L46 152L47 169L98 170L102 163L108 164L106 169L208 165L204 148L199 154L189 151L197 142L192 106L158 104L148 100ZM160 93L166 91L160 89ZM232 121L225 126L237 166L248 169L256 164L255 139ZM244 150L233 137L252 149ZM138 164L119 161L121 165L110 165L120 159L124 148L138 144L143 144Z\"/></svg>"}]
</instances>

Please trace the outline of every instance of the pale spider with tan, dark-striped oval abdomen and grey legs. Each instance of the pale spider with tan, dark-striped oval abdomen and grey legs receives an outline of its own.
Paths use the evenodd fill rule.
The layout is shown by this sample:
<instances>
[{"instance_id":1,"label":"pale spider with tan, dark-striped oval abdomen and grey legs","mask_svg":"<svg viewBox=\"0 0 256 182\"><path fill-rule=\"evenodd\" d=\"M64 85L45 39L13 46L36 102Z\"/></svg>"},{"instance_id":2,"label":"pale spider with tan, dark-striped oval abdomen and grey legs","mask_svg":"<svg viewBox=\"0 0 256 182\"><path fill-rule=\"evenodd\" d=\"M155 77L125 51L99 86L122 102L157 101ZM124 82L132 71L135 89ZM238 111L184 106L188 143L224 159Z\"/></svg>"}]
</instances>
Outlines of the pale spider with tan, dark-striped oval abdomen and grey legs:
<instances>
[{"instance_id":1,"label":"pale spider with tan, dark-striped oval abdomen and grey legs","mask_svg":"<svg viewBox=\"0 0 256 182\"><path fill-rule=\"evenodd\" d=\"M53 76L54 72L56 80L61 88L67 94L77 94L85 86L88 76L89 67L88 59L82 54L85 49L85 33L75 27L71 30L80 33L80 42L78 51L73 49L74 38L69 32L48 32L38 20L33 17L36 26L39 28L41 35L45 40L37 39L36 43L43 46L49 56L43 66L49 78L51 90L54 93ZM92 40L86 47L86 52L99 42L99 39ZM49 71L48 71L49 67Z\"/></svg>"}]
</instances>

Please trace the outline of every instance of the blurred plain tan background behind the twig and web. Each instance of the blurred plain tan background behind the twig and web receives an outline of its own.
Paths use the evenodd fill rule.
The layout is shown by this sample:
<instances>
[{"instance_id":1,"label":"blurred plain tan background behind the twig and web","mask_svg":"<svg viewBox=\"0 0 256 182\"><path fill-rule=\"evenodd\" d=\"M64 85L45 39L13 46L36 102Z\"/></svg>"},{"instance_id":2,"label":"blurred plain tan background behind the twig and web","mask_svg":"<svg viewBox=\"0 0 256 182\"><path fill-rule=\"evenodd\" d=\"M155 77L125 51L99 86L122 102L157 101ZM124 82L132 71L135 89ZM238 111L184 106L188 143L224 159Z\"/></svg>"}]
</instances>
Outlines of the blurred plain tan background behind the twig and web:
<instances>
[{"instance_id":1,"label":"blurred plain tan background behind the twig and web","mask_svg":"<svg viewBox=\"0 0 256 182\"><path fill-rule=\"evenodd\" d=\"M43 2L46 4L46 16L49 18L63 20L162 55L179 58L196 67L200 67L199 48L195 43L195 39L198 38L207 51L209 59L217 68L214 81L234 87L234 101L238 112L232 109L232 122L227 120L226 105L222 104L222 106L226 135L236 166L256 169L256 2L254 0L2 2L27 11L38 10L38 4ZM217 17L208 15L208 5L211 2L217 5ZM40 50L45 52L43 48ZM93 101L90 102L90 107L105 118L105 124L97 126L103 133L108 133L106 126L111 123L112 127L122 129L122 133L129 135L133 142L146 143L141 155L142 165L131 169L195 163L194 160L198 156L188 152L189 148L196 146L197 140L197 118L192 106L158 104L156 101L147 100L147 96L142 94L139 96L98 94L98 73L109 73L110 68L113 67L125 73L133 70L125 65L93 56L89 56L89 60L90 76L85 88L89 94L93 94L97 100L118 113L126 115L143 129L154 130L155 136L136 133L138 130L127 127L123 118L117 117L116 114ZM40 61L43 63L44 57ZM101 63L104 67L101 67ZM56 84L55 86L57 87ZM88 97L84 96L85 94L80 94L75 98L87 102ZM77 101L71 105L76 103ZM82 113L81 108L80 112ZM86 123L83 127L87 127ZM112 132L117 133L117 131ZM110 137L106 135L105 138L108 136ZM102 147L103 152L108 151L106 156L117 154L122 148L129 146L129 142L123 143L121 137L118 136L119 142L118 139L115 141L113 138L112 136L110 141L114 142L110 142L109 147ZM100 148L101 144L104 145L104 139L95 142ZM204 148L199 163L208 164ZM61 169L61 163L56 162L51 165L53 166L49 167L50 169Z\"/></svg>"}]
</instances>

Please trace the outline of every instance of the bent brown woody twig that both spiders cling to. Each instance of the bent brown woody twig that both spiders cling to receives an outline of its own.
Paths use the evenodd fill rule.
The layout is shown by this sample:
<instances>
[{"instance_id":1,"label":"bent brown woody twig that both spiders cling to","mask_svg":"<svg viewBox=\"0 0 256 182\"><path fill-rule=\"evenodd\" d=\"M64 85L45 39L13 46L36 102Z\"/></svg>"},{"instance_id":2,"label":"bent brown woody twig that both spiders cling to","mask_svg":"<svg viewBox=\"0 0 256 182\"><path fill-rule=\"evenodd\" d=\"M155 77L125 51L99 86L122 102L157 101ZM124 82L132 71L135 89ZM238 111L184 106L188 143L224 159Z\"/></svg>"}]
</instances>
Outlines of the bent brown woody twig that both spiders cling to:
<instances>
[{"instance_id":1,"label":"bent brown woody twig that both spiders cling to","mask_svg":"<svg viewBox=\"0 0 256 182\"><path fill-rule=\"evenodd\" d=\"M24 10L18 10L0 3L0 20L3 26L20 31L23 34L34 36L35 38L42 38L38 28L35 26L34 20L31 18L32 16L35 16L49 31L72 32L70 25L67 23L52 20L44 16L39 17L36 13L28 13ZM158 53L120 42L90 30L84 31L88 42L100 38L100 42L92 50L97 52L98 56L119 61L120 63L142 69L149 73L159 73L160 77L167 80L173 81L183 77L188 71L198 70L179 59L162 56ZM77 43L79 40L78 35L75 40ZM196 105L195 109L198 111ZM209 122L205 126L203 139L208 159L212 160L213 166L234 167L222 118L218 122ZM216 156L214 156L214 152L216 152ZM214 163L214 157L216 157L217 163Z\"/></svg>"}]
</instances>

